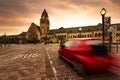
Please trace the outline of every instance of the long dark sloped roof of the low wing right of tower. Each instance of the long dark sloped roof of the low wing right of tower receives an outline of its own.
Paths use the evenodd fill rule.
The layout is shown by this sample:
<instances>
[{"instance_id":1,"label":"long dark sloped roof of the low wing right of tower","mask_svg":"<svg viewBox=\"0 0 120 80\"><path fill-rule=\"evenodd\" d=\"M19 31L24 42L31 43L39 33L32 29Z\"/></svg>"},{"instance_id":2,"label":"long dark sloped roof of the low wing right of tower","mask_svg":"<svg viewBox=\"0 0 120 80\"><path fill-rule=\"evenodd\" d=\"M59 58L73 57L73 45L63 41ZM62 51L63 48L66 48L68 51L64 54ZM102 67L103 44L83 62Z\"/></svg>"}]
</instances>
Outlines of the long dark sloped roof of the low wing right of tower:
<instances>
[{"instance_id":1,"label":"long dark sloped roof of the low wing right of tower","mask_svg":"<svg viewBox=\"0 0 120 80\"><path fill-rule=\"evenodd\" d=\"M120 23L119 24L111 24L111 26L117 26L117 30L120 30ZM81 30L79 30L81 28ZM108 29L109 27L105 26L105 29ZM49 30L49 34L55 34L55 33L77 33L77 32L90 32L90 31L101 31L102 30L102 24L93 25L93 26L82 26L82 27L71 27L71 28L59 28L59 29L52 29Z\"/></svg>"}]
</instances>

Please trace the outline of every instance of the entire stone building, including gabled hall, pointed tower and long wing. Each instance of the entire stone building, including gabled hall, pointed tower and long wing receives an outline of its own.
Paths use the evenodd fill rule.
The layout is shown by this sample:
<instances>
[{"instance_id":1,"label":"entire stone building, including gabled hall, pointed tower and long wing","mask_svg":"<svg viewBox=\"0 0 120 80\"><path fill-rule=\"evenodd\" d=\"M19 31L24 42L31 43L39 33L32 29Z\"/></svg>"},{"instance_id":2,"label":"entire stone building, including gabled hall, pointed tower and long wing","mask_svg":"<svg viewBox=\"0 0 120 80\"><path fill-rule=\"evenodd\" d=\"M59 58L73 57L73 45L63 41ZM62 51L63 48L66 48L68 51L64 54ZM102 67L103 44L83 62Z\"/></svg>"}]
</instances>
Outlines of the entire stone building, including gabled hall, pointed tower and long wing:
<instances>
[{"instance_id":1,"label":"entire stone building, including gabled hall, pointed tower and long wing","mask_svg":"<svg viewBox=\"0 0 120 80\"><path fill-rule=\"evenodd\" d=\"M112 24L111 26L117 26L117 30L112 32L112 42L120 42L120 24ZM50 28L50 22L48 13L44 9L40 18L40 26L32 23L26 32L26 39L33 40L37 39L43 42L43 37L47 37L47 42L61 42L66 41L69 38L102 38L102 24L94 26L83 26L83 27L71 27L71 28ZM105 39L109 39L109 27L105 26ZM44 38L45 39L45 38Z\"/></svg>"}]
</instances>

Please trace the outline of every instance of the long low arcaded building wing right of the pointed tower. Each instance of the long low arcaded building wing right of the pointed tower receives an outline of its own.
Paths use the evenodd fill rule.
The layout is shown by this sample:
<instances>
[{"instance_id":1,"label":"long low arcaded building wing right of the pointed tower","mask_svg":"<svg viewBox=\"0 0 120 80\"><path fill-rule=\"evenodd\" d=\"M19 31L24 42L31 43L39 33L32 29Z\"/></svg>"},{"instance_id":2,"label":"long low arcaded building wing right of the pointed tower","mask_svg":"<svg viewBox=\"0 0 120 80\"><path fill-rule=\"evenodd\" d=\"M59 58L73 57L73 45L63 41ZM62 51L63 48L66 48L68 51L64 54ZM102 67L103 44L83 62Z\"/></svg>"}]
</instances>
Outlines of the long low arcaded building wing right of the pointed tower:
<instances>
[{"instance_id":1,"label":"long low arcaded building wing right of the pointed tower","mask_svg":"<svg viewBox=\"0 0 120 80\"><path fill-rule=\"evenodd\" d=\"M117 30L112 32L112 42L120 42L120 24L112 24L111 26L117 26ZM109 40L109 27L105 26L105 39ZM83 27L72 27L72 28L59 28L49 30L50 39L53 42L60 42L59 37L64 37L64 40L70 38L102 38L102 24L95 26L83 26Z\"/></svg>"}]
</instances>

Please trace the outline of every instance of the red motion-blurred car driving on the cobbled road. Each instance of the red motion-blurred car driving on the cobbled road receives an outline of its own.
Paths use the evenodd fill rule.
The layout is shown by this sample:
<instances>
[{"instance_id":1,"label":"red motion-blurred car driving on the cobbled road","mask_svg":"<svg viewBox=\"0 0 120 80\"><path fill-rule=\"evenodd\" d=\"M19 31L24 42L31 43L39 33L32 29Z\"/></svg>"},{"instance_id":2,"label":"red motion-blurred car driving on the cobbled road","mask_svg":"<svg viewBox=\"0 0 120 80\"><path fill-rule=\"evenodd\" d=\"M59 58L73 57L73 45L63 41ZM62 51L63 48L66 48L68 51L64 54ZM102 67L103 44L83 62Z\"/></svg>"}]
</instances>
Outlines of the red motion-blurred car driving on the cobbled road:
<instances>
[{"instance_id":1,"label":"red motion-blurred car driving on the cobbled road","mask_svg":"<svg viewBox=\"0 0 120 80\"><path fill-rule=\"evenodd\" d=\"M60 45L58 52L78 73L106 71L114 60L100 38L70 39Z\"/></svg>"}]
</instances>

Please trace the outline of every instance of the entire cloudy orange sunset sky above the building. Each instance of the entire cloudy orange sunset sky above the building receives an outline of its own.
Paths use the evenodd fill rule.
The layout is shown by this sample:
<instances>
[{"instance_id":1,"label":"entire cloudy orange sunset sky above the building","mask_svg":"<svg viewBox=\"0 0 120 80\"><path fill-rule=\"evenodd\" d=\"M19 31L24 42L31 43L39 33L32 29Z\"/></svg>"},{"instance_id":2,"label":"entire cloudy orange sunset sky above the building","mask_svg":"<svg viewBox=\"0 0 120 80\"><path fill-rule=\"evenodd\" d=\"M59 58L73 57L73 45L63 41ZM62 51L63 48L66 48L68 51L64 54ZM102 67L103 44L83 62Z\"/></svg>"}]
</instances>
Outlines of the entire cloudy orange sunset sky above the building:
<instances>
[{"instance_id":1,"label":"entire cloudy orange sunset sky above the building","mask_svg":"<svg viewBox=\"0 0 120 80\"><path fill-rule=\"evenodd\" d=\"M40 24L46 9L50 29L83 27L102 22L100 11L111 23L120 23L120 0L0 0L0 35L26 32L31 23Z\"/></svg>"}]
</instances>

